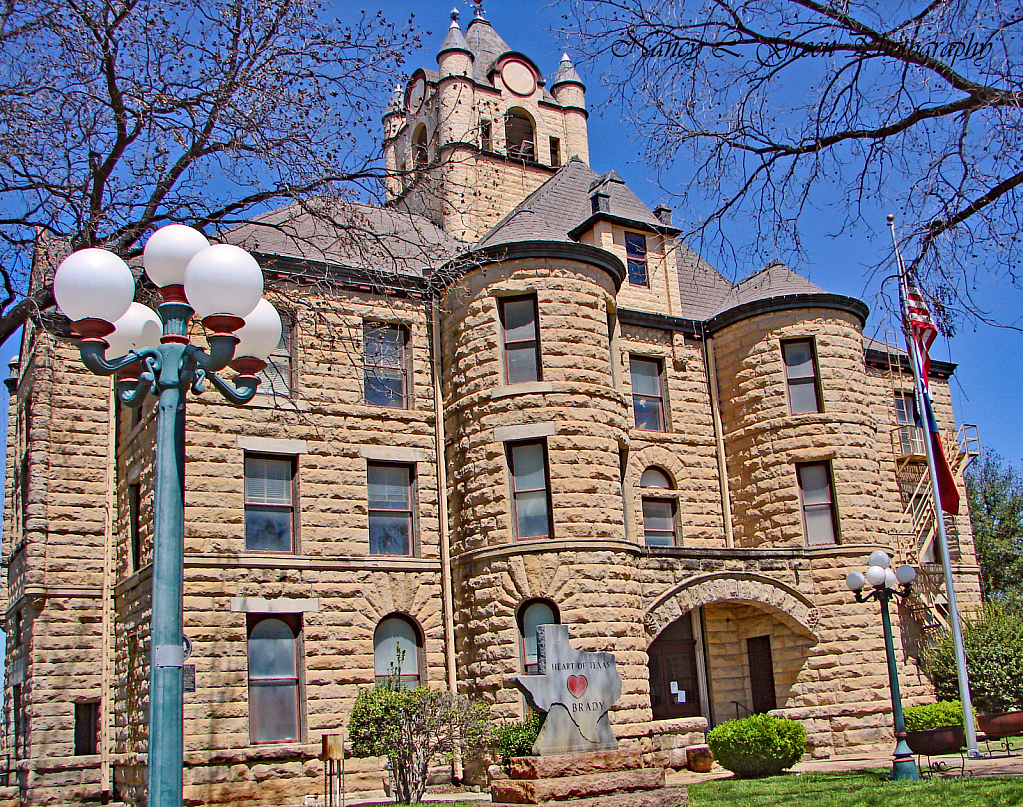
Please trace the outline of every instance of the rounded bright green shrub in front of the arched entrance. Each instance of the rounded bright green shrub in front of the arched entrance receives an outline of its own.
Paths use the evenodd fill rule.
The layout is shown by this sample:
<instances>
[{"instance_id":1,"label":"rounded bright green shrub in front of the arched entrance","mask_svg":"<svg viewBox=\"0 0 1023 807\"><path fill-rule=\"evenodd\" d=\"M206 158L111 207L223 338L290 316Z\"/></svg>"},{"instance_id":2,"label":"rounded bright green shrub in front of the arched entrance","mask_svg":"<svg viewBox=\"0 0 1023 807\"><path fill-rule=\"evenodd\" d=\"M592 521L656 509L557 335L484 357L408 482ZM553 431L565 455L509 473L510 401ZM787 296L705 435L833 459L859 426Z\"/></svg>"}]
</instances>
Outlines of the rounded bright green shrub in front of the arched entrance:
<instances>
[{"instance_id":1,"label":"rounded bright green shrub in front of the arched entrance","mask_svg":"<svg viewBox=\"0 0 1023 807\"><path fill-rule=\"evenodd\" d=\"M707 744L714 758L740 778L770 776L803 756L806 731L795 720L753 715L712 728Z\"/></svg>"}]
</instances>

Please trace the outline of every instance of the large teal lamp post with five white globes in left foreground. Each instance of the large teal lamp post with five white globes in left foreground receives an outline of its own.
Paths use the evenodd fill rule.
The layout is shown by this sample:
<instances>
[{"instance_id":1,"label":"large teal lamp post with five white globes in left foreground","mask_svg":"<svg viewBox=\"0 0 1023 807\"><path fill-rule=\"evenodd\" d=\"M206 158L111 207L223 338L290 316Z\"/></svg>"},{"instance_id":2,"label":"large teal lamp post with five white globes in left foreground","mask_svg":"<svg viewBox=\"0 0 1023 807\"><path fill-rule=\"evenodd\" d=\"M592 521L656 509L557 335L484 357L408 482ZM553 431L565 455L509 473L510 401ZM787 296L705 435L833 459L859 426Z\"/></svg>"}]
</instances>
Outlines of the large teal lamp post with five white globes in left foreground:
<instances>
[{"instance_id":1,"label":"large teal lamp post with five white globes in left foreground","mask_svg":"<svg viewBox=\"0 0 1023 807\"><path fill-rule=\"evenodd\" d=\"M256 394L257 373L280 340L280 316L262 299L256 260L230 244L211 245L197 230L170 225L145 245L145 273L160 288L160 314L133 303L128 265L104 250L73 253L57 268L53 292L82 337L82 362L116 375L119 399L141 406L157 396L149 654L148 804L182 800L182 591L184 577L185 399L209 380L233 404ZM191 344L199 316L209 350ZM107 357L109 356L109 357ZM217 373L228 365L233 382Z\"/></svg>"}]
</instances>

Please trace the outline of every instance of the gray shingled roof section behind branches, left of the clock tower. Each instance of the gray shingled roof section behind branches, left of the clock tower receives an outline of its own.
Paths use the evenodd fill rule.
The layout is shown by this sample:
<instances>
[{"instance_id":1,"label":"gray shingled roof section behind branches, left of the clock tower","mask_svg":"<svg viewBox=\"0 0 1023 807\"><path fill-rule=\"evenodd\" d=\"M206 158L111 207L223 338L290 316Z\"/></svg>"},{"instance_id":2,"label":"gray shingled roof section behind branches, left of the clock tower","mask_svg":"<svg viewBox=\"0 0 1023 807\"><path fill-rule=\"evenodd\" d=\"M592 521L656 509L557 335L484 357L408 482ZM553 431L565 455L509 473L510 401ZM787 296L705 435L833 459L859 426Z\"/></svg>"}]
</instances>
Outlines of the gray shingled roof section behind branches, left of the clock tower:
<instances>
[{"instance_id":1,"label":"gray shingled roof section behind branches, left of the clock tower","mask_svg":"<svg viewBox=\"0 0 1023 807\"><path fill-rule=\"evenodd\" d=\"M469 249L422 216L332 199L270 211L221 237L265 255L414 276Z\"/></svg>"}]
</instances>

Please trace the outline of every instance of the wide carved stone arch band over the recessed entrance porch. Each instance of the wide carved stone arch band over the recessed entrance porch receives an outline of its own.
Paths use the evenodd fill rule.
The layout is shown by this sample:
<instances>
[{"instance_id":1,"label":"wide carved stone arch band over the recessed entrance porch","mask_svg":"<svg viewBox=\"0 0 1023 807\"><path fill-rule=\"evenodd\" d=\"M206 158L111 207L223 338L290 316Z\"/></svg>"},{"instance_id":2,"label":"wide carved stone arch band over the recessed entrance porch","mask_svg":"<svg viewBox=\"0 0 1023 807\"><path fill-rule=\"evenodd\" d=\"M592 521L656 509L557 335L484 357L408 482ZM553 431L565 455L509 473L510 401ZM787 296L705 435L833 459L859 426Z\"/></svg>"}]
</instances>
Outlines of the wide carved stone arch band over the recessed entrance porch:
<instances>
[{"instance_id":1,"label":"wide carved stone arch band over the recessed entrance porch","mask_svg":"<svg viewBox=\"0 0 1023 807\"><path fill-rule=\"evenodd\" d=\"M691 578L655 600L644 617L647 633L653 638L682 614L726 600L766 607L797 633L818 640L817 611L805 594L769 577L727 572Z\"/></svg>"}]
</instances>

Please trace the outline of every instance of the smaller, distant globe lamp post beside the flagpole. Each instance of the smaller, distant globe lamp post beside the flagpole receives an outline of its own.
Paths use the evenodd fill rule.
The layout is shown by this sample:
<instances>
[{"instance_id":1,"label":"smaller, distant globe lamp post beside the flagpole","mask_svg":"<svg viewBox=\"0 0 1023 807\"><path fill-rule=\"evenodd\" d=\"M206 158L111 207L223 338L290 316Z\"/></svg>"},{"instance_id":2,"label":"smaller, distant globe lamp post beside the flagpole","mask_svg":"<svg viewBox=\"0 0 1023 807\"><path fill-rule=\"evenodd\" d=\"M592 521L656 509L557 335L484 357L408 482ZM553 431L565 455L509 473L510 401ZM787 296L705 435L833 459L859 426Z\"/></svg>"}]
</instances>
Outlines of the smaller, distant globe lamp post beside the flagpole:
<instances>
[{"instance_id":1,"label":"smaller, distant globe lamp post beside the flagpole","mask_svg":"<svg viewBox=\"0 0 1023 807\"><path fill-rule=\"evenodd\" d=\"M905 742L905 718L902 715L902 696L898 685L898 667L895 662L895 642L892 639L892 620L888 603L893 597L909 595L909 586L917 579L917 571L911 566L900 566L894 572L889 568L888 553L878 549L871 552L866 572L850 572L845 579L849 589L856 594L857 602L876 599L881 603L881 624L885 630L885 656L888 659L888 680L892 692L892 718L895 723L895 753L892 757L892 778L920 780L920 771L913 758L913 752ZM864 594L863 586L870 583L872 590ZM901 590L895 586L900 586Z\"/></svg>"}]
</instances>

